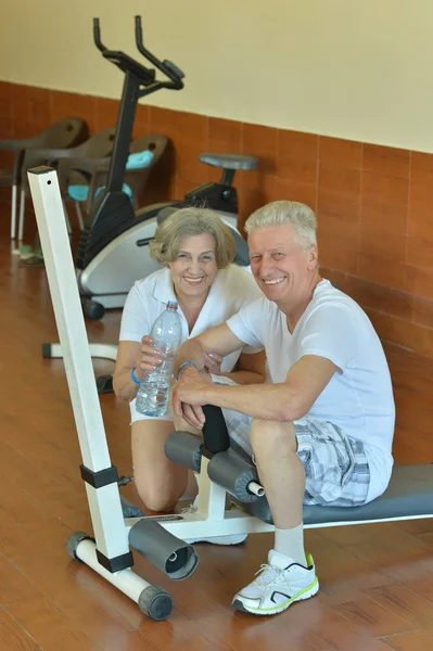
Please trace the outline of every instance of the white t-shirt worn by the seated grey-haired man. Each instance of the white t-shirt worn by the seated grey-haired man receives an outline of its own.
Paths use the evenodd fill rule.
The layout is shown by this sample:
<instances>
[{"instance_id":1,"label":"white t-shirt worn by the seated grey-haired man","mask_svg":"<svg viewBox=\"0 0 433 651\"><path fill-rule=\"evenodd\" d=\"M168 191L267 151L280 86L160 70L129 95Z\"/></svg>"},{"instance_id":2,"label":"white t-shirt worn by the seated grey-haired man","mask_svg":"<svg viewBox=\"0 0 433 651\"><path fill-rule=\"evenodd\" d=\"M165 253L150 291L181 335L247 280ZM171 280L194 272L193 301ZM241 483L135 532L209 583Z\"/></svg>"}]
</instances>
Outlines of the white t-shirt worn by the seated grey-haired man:
<instances>
[{"instance_id":1,"label":"white t-shirt worn by the seated grey-haired man","mask_svg":"<svg viewBox=\"0 0 433 651\"><path fill-rule=\"evenodd\" d=\"M330 421L362 441L370 465L368 500L386 488L393 467L395 406L382 344L365 311L328 280L290 333L285 315L263 297L227 322L251 346L264 346L268 381L284 382L304 355L330 359L339 371L319 395L308 417Z\"/></svg>"}]
</instances>

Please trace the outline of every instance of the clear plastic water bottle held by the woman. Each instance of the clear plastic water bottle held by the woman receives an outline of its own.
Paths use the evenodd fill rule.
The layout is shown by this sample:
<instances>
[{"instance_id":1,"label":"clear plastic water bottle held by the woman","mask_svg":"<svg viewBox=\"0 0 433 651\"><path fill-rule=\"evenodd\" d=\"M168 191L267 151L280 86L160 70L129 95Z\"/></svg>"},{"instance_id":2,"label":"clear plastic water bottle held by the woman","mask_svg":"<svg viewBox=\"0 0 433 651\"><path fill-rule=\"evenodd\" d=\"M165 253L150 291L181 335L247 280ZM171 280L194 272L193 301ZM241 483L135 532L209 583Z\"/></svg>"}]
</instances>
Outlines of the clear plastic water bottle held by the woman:
<instances>
[{"instance_id":1,"label":"clear plastic water bottle held by the woman","mask_svg":"<svg viewBox=\"0 0 433 651\"><path fill-rule=\"evenodd\" d=\"M173 367L180 345L182 323L176 301L169 301L166 309L152 327L154 346L161 353L161 363L141 382L136 409L144 416L163 416L167 411Z\"/></svg>"}]
</instances>

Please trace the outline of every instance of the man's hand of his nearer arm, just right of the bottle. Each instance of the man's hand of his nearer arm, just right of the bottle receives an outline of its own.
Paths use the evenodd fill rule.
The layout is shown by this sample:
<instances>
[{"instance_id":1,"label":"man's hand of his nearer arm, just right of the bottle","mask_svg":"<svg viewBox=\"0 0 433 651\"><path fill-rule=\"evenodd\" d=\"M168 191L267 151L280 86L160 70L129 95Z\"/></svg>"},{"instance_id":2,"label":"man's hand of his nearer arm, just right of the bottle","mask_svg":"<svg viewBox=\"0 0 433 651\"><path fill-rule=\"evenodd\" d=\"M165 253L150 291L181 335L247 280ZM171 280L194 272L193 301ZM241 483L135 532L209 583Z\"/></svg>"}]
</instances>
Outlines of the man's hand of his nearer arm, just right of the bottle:
<instances>
[{"instance_id":1,"label":"man's hand of his nearer arm, just right of the bottle","mask_svg":"<svg viewBox=\"0 0 433 651\"><path fill-rule=\"evenodd\" d=\"M205 422L202 406L207 405L206 396L209 381L205 380L193 367L186 367L174 385L171 406L179 418L189 425L201 430Z\"/></svg>"}]
</instances>

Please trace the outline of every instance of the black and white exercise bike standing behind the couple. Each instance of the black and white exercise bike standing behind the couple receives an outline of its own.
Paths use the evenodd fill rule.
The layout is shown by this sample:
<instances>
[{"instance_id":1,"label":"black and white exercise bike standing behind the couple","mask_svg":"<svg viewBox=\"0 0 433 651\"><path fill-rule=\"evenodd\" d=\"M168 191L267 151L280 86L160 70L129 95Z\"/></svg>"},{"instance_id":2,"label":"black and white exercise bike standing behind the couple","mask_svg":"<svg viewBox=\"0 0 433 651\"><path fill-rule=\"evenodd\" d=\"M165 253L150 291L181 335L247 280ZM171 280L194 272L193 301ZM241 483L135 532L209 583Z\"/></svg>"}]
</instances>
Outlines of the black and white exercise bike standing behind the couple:
<instances>
[{"instance_id":1,"label":"black and white exercise bike standing behind the couple","mask_svg":"<svg viewBox=\"0 0 433 651\"><path fill-rule=\"evenodd\" d=\"M174 209L205 205L217 212L232 229L237 242L234 261L240 266L250 264L246 244L237 230L238 199L232 182L237 169L254 169L257 158L203 154L201 162L222 168L219 183L205 183L188 192L182 201L158 203L135 213L122 187L138 100L163 88L180 90L184 75L174 63L160 61L144 48L140 16L136 16L137 48L168 77L168 81L157 80L155 69L144 67L124 52L105 48L98 18L93 21L93 39L104 59L125 73L107 187L94 199L87 216L76 260L84 312L90 319L101 319L105 308L124 306L136 280L160 268L157 261L149 256L149 242L155 235L158 221Z\"/></svg>"}]
</instances>

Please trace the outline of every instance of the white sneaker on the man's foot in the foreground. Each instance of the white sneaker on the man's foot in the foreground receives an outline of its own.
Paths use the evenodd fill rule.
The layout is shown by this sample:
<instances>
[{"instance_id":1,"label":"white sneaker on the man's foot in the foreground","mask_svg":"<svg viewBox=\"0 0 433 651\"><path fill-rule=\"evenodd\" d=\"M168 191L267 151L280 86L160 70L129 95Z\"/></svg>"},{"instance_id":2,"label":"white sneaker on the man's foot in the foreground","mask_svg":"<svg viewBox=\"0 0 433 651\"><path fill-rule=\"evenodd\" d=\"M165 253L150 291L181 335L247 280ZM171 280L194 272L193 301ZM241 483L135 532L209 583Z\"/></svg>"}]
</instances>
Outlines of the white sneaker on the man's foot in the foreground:
<instances>
[{"instance_id":1,"label":"white sneaker on the man's foot in the foreground","mask_svg":"<svg viewBox=\"0 0 433 651\"><path fill-rule=\"evenodd\" d=\"M309 599L319 590L313 557L306 554L308 567L303 567L275 549L268 564L262 565L246 588L234 595L232 605L254 615L275 615L294 601Z\"/></svg>"}]
</instances>

